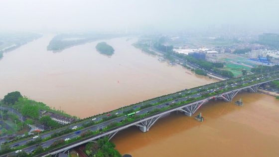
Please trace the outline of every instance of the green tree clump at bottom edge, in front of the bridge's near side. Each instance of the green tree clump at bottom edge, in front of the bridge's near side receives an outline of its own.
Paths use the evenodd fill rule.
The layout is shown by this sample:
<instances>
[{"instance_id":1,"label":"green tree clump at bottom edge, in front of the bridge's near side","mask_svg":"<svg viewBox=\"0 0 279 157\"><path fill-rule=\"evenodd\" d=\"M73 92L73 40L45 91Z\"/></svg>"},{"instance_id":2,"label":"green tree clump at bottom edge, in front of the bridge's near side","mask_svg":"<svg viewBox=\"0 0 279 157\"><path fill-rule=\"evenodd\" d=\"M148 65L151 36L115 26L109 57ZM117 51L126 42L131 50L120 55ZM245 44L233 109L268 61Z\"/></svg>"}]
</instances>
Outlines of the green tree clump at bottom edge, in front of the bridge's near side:
<instances>
[{"instance_id":1,"label":"green tree clump at bottom edge, in front of the bridge's near side","mask_svg":"<svg viewBox=\"0 0 279 157\"><path fill-rule=\"evenodd\" d=\"M115 149L115 144L111 143L108 137L97 140L97 143L87 143L85 153L89 157L121 157Z\"/></svg>"}]
</instances>

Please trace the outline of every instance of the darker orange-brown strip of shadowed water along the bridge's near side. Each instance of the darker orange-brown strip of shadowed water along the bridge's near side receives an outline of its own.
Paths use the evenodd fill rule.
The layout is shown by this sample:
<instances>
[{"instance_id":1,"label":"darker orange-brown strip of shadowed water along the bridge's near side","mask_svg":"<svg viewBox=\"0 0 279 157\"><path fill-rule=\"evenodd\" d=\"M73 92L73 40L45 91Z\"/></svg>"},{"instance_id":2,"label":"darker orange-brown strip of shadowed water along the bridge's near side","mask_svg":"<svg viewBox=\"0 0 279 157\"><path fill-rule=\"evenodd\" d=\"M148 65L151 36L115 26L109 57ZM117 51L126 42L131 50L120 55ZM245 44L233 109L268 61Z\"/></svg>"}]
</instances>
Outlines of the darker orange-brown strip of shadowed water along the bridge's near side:
<instances>
[{"instance_id":1,"label":"darker orange-brown strip of shadowed water along the bridge's near side","mask_svg":"<svg viewBox=\"0 0 279 157\"><path fill-rule=\"evenodd\" d=\"M114 142L117 149L120 148L123 153L133 152L134 150L146 147L154 142L159 143L164 138L175 136L176 134L191 130L195 127L207 125L210 121L222 119L225 115L241 110L242 107L235 105L234 102L240 99L242 94L244 94L244 96L252 96L252 93L242 91L232 102L210 100L203 104L192 117L188 117L181 112L172 112L160 118L148 132L142 133L138 127L133 126L117 133L116 136L113 137L112 142ZM204 117L203 122L198 122L194 119L194 116L198 115L200 112ZM132 144L129 145L130 143Z\"/></svg>"}]
</instances>

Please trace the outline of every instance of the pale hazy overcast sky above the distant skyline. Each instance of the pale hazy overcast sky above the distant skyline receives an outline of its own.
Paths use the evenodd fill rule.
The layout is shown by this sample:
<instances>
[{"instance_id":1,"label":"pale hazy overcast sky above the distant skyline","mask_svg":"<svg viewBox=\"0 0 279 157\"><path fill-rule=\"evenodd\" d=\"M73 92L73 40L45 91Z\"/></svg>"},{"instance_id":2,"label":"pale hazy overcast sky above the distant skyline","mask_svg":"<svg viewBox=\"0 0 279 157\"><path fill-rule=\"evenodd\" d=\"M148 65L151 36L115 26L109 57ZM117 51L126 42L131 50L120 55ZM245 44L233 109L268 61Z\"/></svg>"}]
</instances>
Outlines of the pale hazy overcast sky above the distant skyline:
<instances>
[{"instance_id":1,"label":"pale hazy overcast sky above the distant skyline","mask_svg":"<svg viewBox=\"0 0 279 157\"><path fill-rule=\"evenodd\" d=\"M0 31L278 29L279 0L0 0Z\"/></svg>"}]
</instances>

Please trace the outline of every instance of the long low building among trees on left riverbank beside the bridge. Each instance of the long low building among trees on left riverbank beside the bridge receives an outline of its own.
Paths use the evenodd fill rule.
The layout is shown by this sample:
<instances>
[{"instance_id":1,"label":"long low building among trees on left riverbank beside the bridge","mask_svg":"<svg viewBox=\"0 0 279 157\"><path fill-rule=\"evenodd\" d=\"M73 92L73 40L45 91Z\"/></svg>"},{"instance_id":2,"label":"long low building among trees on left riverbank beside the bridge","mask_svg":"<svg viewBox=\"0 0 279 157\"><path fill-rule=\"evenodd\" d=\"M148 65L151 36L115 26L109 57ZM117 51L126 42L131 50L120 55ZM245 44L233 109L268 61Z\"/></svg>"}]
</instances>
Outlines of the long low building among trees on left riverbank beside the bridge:
<instances>
[{"instance_id":1,"label":"long low building among trees on left riverbank beside the bridge","mask_svg":"<svg viewBox=\"0 0 279 157\"><path fill-rule=\"evenodd\" d=\"M61 116L56 113L45 111L45 110L40 110L40 117L43 116L49 116L52 120L58 122L59 124L69 124L76 121L76 119L74 118Z\"/></svg>"}]
</instances>

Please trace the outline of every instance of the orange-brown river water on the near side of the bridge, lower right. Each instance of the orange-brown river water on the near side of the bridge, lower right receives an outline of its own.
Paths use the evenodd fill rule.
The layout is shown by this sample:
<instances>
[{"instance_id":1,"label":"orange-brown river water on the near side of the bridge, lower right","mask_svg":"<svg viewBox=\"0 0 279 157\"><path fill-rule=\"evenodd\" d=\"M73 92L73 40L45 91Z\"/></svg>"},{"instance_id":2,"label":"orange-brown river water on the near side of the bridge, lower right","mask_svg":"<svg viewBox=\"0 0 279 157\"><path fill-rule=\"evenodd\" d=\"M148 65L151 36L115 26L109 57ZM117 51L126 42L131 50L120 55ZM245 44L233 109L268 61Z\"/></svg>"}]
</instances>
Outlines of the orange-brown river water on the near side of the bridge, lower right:
<instances>
[{"instance_id":1,"label":"orange-brown river water on the near side of the bridge, lower right","mask_svg":"<svg viewBox=\"0 0 279 157\"><path fill-rule=\"evenodd\" d=\"M204 122L180 113L159 119L148 132L132 127L113 142L133 157L279 157L279 100L240 93L243 107L211 101L199 112Z\"/></svg>"}]
</instances>

